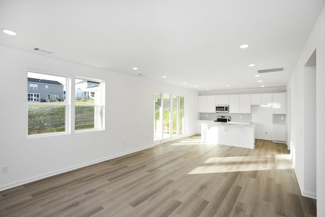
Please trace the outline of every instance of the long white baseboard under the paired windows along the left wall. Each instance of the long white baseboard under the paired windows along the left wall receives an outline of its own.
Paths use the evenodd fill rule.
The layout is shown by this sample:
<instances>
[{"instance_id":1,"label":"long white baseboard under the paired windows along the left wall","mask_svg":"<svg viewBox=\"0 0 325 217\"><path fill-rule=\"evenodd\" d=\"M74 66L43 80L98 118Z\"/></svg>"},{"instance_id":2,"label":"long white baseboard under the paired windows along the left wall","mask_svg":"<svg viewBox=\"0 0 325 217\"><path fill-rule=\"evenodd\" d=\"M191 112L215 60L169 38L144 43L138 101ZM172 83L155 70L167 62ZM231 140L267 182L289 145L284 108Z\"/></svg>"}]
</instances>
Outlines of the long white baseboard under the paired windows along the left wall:
<instances>
[{"instance_id":1,"label":"long white baseboard under the paired windows along the left wall","mask_svg":"<svg viewBox=\"0 0 325 217\"><path fill-rule=\"evenodd\" d=\"M17 187L17 186L22 185L22 184L26 184L26 183L29 183L29 182L32 182L32 181L37 181L37 180L47 178L47 177L50 177L50 176L53 176L53 175L57 175L57 174L60 174L60 173L69 172L69 171L79 169L79 168L82 168L82 167L86 167L86 166L90 166L90 165L93 165L93 164L98 164L98 163L101 163L101 162L104 162L104 161L108 161L108 160L111 160L111 159L114 159L114 158L118 158L118 157L124 156L126 154L134 153L134 152L137 152L137 151L145 150L145 149L148 149L148 148L151 148L151 147L153 147L153 145L149 145L149 146L146 146L146 147L142 147L142 148L134 149L134 150L131 150L131 151L123 152L123 153L120 153L120 154L116 154L115 156L110 156L110 157L107 157L107 158L102 158L102 159L99 159L99 160L79 164L79 165L76 165L76 166L73 166L73 167L68 167L68 168L64 168L64 169L61 169L61 170L45 173L43 175L38 175L38 176L26 178L26 179L16 181L16 182L12 182L12 183L9 183L9 184L1 185L0 186L0 191L11 189L11 188Z\"/></svg>"}]
</instances>

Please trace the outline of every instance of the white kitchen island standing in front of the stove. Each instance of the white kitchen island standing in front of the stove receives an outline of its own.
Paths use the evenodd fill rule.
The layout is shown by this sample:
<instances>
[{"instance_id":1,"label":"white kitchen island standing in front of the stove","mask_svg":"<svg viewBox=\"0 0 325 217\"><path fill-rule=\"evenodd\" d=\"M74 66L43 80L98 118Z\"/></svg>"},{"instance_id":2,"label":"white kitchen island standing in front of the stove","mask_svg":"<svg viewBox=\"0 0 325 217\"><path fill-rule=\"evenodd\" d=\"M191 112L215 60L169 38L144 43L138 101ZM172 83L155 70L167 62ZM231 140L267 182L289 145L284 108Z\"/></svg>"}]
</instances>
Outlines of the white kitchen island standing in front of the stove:
<instances>
[{"instance_id":1,"label":"white kitchen island standing in front of the stove","mask_svg":"<svg viewBox=\"0 0 325 217\"><path fill-rule=\"evenodd\" d=\"M255 125L203 122L201 142L254 148Z\"/></svg>"}]
</instances>

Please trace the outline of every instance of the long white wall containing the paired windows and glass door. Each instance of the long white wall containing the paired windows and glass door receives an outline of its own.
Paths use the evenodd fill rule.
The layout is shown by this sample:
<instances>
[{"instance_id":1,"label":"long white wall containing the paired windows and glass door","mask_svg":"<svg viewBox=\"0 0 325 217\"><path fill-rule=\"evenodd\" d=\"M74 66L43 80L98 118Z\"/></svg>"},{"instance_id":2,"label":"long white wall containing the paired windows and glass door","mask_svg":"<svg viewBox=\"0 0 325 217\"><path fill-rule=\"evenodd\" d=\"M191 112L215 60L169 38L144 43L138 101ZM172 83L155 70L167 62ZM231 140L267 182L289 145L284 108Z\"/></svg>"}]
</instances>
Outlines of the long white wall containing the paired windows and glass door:
<instances>
[{"instance_id":1,"label":"long white wall containing the paired windows and glass door","mask_svg":"<svg viewBox=\"0 0 325 217\"><path fill-rule=\"evenodd\" d=\"M155 91L184 96L186 135L196 132L197 91L1 46L0 59L0 191L153 146ZM105 80L105 131L27 139L30 69Z\"/></svg>"}]
</instances>

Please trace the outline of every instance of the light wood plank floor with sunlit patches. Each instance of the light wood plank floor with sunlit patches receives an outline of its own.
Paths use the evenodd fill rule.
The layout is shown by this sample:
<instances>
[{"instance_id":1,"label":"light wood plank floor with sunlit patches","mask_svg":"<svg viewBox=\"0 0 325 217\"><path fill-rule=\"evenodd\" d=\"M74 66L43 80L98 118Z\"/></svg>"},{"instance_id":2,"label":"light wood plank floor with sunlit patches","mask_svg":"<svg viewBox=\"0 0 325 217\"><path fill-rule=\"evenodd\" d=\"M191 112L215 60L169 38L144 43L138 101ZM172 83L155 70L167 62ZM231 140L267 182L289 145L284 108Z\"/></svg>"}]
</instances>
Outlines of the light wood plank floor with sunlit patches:
<instances>
[{"instance_id":1,"label":"light wood plank floor with sunlit patches","mask_svg":"<svg viewBox=\"0 0 325 217\"><path fill-rule=\"evenodd\" d=\"M286 145L169 142L0 192L0 216L316 216Z\"/></svg>"}]
</instances>

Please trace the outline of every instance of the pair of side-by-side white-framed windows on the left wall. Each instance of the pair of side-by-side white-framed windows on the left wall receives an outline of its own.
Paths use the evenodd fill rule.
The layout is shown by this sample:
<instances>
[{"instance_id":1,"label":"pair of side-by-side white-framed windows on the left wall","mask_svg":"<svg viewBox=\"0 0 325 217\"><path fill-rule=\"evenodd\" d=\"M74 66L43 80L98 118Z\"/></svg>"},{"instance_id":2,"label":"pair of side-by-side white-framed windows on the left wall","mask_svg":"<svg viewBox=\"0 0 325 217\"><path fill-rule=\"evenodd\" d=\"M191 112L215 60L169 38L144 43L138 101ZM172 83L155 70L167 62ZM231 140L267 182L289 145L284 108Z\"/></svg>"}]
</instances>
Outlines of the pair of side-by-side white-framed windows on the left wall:
<instances>
[{"instance_id":1,"label":"pair of side-by-side white-framed windows on the left wall","mask_svg":"<svg viewBox=\"0 0 325 217\"><path fill-rule=\"evenodd\" d=\"M72 88L75 88L76 95L73 97L66 89L67 81L72 78L33 72L27 72L27 78L29 88L27 135L35 137L36 134L103 129L104 81L75 79ZM45 91L44 87L50 91ZM71 100L67 101L67 99L72 99L71 104L75 106L71 106L68 103Z\"/></svg>"}]
</instances>

